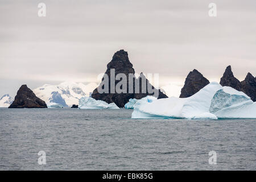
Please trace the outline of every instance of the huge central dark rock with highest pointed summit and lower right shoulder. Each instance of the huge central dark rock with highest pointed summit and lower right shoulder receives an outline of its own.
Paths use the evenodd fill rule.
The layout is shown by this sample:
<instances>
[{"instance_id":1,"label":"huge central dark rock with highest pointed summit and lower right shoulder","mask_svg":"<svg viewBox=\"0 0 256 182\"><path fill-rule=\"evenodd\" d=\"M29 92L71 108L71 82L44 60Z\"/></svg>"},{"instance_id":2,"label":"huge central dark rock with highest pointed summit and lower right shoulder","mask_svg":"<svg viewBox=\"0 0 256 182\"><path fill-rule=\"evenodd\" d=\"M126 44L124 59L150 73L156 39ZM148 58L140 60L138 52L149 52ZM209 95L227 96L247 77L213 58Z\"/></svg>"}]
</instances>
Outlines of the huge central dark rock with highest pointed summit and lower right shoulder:
<instances>
[{"instance_id":1,"label":"huge central dark rock with highest pointed summit and lower right shoulder","mask_svg":"<svg viewBox=\"0 0 256 182\"><path fill-rule=\"evenodd\" d=\"M118 75L119 73L122 73L122 74ZM143 75L143 73L141 73L141 75L138 78L134 76L134 73L135 71L133 68L133 64L130 63L128 53L123 49L115 52L112 60L108 63L107 69L105 72L105 76L108 76L108 81L105 81L104 78L102 78L102 82L100 86L98 86L98 88L93 90L92 98L94 98L95 100L105 101L108 104L114 102L118 107L124 107L130 98L141 99L143 97L153 95L155 92L158 92L158 89L155 89L154 86L150 84L150 82ZM121 77L122 80L120 79L120 80L111 81L112 78L115 78L117 75L126 76L126 80L123 80L123 77ZM148 88L147 87L144 88L142 86L141 80L145 81L143 82L143 86L144 85L152 86L151 88L155 92L154 93L148 92ZM129 82L133 82L133 84L130 85ZM138 85L137 88L135 88L136 87L135 82L139 83L137 84ZM117 92L117 90L115 90L117 86L119 86L118 88L122 89L121 92ZM99 89L101 91L102 89L105 89L105 90L103 93L100 93ZM167 96L159 90L158 98L167 98Z\"/></svg>"}]
</instances>

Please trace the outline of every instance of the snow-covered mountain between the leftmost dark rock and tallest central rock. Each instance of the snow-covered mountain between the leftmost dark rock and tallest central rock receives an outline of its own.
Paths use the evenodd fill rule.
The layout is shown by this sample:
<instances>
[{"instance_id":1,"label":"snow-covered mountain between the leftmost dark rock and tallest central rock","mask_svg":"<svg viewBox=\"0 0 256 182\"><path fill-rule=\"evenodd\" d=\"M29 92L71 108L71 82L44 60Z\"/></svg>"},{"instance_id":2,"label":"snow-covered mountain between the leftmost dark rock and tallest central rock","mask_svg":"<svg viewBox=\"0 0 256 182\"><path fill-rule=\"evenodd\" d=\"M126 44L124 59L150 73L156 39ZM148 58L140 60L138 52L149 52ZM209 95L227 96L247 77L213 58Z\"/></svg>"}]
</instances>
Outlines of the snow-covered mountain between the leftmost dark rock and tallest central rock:
<instances>
[{"instance_id":1,"label":"snow-covered mountain between the leftmost dark rock and tallest central rock","mask_svg":"<svg viewBox=\"0 0 256 182\"><path fill-rule=\"evenodd\" d=\"M46 102L60 104L64 107L78 105L81 97L89 97L93 89L97 87L96 83L82 84L76 82L62 82L59 85L45 84L33 90L37 97Z\"/></svg>"}]
</instances>

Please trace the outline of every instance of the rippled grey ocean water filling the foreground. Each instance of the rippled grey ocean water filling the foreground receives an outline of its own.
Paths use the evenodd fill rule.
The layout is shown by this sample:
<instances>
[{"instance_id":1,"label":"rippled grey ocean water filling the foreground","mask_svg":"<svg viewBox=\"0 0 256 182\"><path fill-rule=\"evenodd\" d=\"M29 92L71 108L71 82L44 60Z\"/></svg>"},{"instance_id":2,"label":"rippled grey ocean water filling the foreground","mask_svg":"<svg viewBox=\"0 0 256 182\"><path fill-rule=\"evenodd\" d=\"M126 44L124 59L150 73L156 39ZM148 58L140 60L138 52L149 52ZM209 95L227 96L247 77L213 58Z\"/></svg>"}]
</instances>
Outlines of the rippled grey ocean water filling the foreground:
<instances>
[{"instance_id":1,"label":"rippled grey ocean water filling the foreground","mask_svg":"<svg viewBox=\"0 0 256 182\"><path fill-rule=\"evenodd\" d=\"M131 119L132 110L0 109L0 170L255 170L256 119ZM38 152L46 152L46 165ZM210 165L209 151L217 152Z\"/></svg>"}]
</instances>

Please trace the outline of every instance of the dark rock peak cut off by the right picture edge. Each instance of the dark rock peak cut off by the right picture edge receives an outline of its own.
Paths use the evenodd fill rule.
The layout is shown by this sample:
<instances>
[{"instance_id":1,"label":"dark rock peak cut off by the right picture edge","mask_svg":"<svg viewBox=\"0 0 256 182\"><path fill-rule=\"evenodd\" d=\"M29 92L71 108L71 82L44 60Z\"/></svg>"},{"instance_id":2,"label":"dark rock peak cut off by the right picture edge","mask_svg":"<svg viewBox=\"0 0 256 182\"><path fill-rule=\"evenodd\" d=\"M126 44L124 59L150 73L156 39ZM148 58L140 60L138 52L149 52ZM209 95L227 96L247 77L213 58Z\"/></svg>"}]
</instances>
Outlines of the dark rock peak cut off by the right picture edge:
<instances>
[{"instance_id":1,"label":"dark rock peak cut off by the right picture edge","mask_svg":"<svg viewBox=\"0 0 256 182\"><path fill-rule=\"evenodd\" d=\"M241 81L241 91L256 102L256 77L253 77L251 73L248 73L245 80Z\"/></svg>"}]
</instances>

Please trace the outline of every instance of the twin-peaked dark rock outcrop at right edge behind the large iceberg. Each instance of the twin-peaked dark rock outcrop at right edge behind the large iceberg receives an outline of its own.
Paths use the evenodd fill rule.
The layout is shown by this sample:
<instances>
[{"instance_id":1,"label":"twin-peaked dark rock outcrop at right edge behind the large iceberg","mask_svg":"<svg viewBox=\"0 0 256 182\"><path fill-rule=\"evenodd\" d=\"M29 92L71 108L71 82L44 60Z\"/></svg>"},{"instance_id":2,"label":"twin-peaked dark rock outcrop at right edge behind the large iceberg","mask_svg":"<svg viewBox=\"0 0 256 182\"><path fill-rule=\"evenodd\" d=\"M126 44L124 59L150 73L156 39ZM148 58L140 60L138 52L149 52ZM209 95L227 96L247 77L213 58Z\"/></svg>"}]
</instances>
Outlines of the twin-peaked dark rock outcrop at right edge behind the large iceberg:
<instances>
[{"instance_id":1,"label":"twin-peaked dark rock outcrop at right edge behind the large iceberg","mask_svg":"<svg viewBox=\"0 0 256 182\"><path fill-rule=\"evenodd\" d=\"M251 97L251 100L256 102L256 78L251 75L251 73L248 73L245 80L240 82L234 77L231 66L229 65L221 78L220 84L242 91L247 96Z\"/></svg>"}]
</instances>

